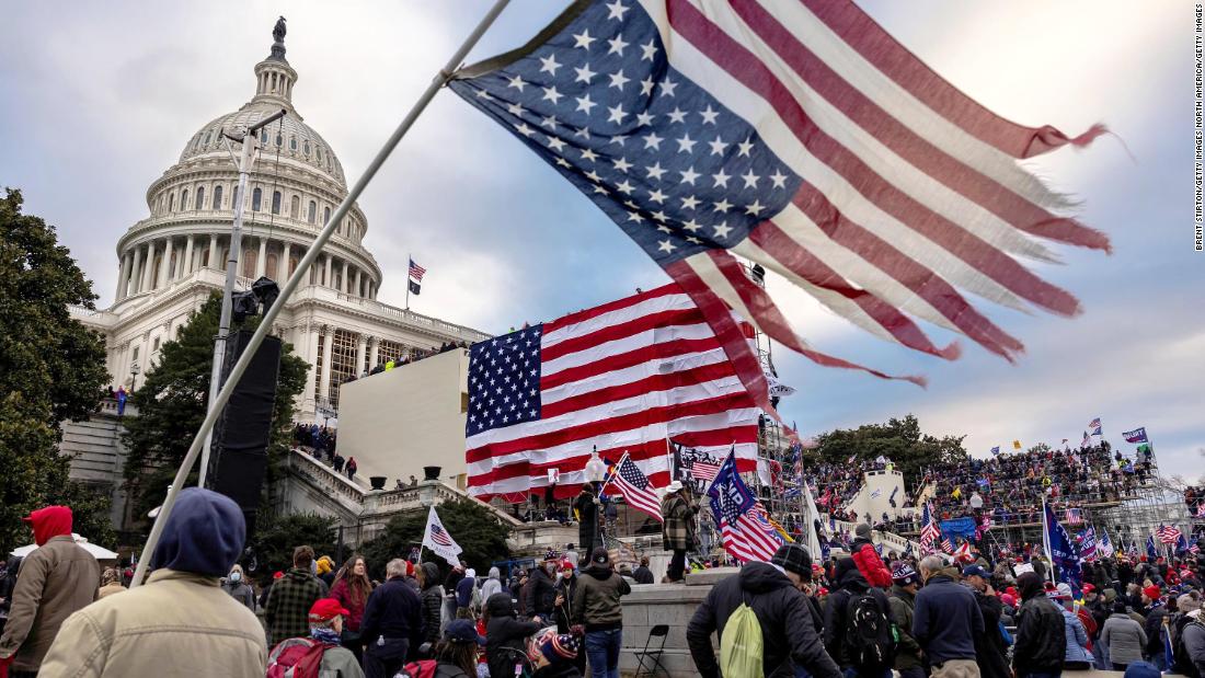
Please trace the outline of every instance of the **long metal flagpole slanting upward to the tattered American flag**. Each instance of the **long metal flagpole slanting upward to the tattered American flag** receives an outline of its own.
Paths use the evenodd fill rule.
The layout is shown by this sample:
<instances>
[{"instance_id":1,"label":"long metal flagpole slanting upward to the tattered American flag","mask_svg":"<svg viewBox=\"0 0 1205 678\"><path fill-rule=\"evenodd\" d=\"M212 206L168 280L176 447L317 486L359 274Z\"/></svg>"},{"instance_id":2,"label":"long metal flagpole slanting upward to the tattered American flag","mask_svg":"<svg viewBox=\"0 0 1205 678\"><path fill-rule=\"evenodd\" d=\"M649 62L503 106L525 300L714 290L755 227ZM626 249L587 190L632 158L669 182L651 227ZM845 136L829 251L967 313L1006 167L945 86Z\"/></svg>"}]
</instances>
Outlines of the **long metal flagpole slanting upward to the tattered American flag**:
<instances>
[{"instance_id":1,"label":"long metal flagpole slanting upward to the tattered American flag","mask_svg":"<svg viewBox=\"0 0 1205 678\"><path fill-rule=\"evenodd\" d=\"M142 579L146 577L147 565L151 562L151 555L154 554L154 548L159 543L159 536L163 535L163 527L167 523L167 518L171 515L171 509L176 503L177 495L180 495L180 489L184 487L184 479L188 477L188 472L192 470L193 464L196 464L196 456L200 454L201 444L204 443L206 436L208 436L210 431L213 430L213 424L217 421L218 414L230 400L230 394L234 393L235 387L239 384L239 379L242 378L242 373L247 371L247 365L251 364L251 359L255 355L255 352L259 350L259 344L264 342L264 337L268 336L269 331L271 331L272 323L276 320L276 317L280 314L281 309L284 308L284 303L289 300L289 296L293 295L293 291L296 290L299 284L301 284L302 273L307 273L310 266L318 259L318 253L321 253L323 247L325 247L331 235L334 235L335 229L352 208L352 205L357 199L359 199L360 194L364 193L364 189L372 181L372 177L376 176L377 171L381 170L381 165L383 165L386 159L389 158L389 154L393 153L393 149L401 141L401 137L406 136L406 132L410 131L411 126L413 126L415 120L418 119L418 116L427 108L428 104L431 102L431 99L435 98L435 93L437 93L440 88L447 84L448 79L452 78L452 73L455 71L457 66L464 61L469 51L472 49L474 45L476 45L478 40L481 40L481 36L486 33L490 24L494 23L494 19L496 19L498 14L502 12L507 2L510 2L510 0L496 0L489 11L486 12L486 16L482 17L481 22L477 23L476 28L472 29L472 33L469 34L469 37L465 39L464 43L457 48L454 54L452 54L452 58L448 59L447 64L445 64L445 66L435 76L431 84L427 87L422 96L418 98L418 101L415 102L415 106L408 113L406 113L406 117L402 118L401 123L398 124L398 128L384 142L384 146L381 147L381 151L378 151L376 157L372 158L372 161L369 163L369 166L364 170L364 175L360 176L360 178L355 182L355 185L353 185L347 193L343 201L339 204L339 207L330 216L330 219L327 220L327 225L323 226L318 237L315 238L313 246L305 253L305 257L302 257L301 261L298 263L296 270L293 271L288 282L284 283L284 287L281 289L280 297L277 297L271 308L264 313L264 319L259 323L259 326L255 329L255 334L252 335L247 348L243 349L242 355L239 356L239 360L230 370L230 376L227 378L222 390L218 391L216 399L210 401L210 411L205 415L205 420L201 423L201 429L196 431L196 436L193 437L193 443L189 446L188 454L184 455L184 460L181 462L180 470L176 471L176 481L172 483L171 489L167 490L167 497L163 502L163 508L159 511L159 515L155 517L154 525L151 527L151 533L147 536L146 546L142 547L142 558L139 560L139 567L134 573L134 582L130 583L130 588L140 585Z\"/></svg>"}]
</instances>

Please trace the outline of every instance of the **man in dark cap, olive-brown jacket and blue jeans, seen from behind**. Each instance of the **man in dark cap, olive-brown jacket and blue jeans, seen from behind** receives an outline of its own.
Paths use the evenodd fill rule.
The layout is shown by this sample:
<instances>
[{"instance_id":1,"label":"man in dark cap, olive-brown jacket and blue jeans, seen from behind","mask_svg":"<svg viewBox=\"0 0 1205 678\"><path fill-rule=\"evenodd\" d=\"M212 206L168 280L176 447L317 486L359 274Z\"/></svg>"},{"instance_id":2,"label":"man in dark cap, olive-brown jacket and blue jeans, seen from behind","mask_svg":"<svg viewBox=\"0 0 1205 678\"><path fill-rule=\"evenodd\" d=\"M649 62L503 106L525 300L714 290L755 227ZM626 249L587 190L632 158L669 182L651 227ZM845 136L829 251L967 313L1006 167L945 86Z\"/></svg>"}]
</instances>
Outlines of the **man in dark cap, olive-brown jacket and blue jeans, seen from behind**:
<instances>
[{"instance_id":1,"label":"man in dark cap, olive-brown jacket and blue jeans, seen from behind","mask_svg":"<svg viewBox=\"0 0 1205 678\"><path fill-rule=\"evenodd\" d=\"M586 658L590 676L619 678L619 648L623 644L623 608L619 599L631 586L615 571L605 547L590 552L590 564L577 578L570 605L575 625L586 633Z\"/></svg>"}]
</instances>

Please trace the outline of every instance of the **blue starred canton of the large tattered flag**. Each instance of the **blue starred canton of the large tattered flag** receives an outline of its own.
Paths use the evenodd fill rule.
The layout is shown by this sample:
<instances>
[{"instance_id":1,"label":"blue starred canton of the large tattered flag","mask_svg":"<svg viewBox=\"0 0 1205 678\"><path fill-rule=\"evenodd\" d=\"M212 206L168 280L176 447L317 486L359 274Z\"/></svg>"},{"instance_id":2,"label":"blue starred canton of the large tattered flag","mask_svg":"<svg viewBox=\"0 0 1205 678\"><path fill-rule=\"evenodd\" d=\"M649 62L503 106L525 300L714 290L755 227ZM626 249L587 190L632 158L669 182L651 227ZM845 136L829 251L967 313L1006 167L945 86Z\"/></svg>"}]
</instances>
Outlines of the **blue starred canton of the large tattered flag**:
<instances>
[{"instance_id":1,"label":"blue starred canton of the large tattered flag","mask_svg":"<svg viewBox=\"0 0 1205 678\"><path fill-rule=\"evenodd\" d=\"M669 65L630 0L595 4L562 36L458 81L663 265L730 247L800 179L757 132Z\"/></svg>"}]
</instances>

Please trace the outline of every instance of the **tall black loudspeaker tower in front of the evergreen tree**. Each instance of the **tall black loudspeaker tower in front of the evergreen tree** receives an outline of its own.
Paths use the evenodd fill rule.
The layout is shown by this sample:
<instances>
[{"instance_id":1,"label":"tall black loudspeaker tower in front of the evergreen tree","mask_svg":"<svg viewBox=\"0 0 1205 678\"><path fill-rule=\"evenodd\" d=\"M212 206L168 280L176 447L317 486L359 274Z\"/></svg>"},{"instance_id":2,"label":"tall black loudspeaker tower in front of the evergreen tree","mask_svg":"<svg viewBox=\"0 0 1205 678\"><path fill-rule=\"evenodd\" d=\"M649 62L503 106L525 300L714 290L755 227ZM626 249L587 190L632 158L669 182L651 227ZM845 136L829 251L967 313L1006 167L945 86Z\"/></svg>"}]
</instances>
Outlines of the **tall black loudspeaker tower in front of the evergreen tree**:
<instances>
[{"instance_id":1,"label":"tall black loudspeaker tower in front of the evergreen tree","mask_svg":"<svg viewBox=\"0 0 1205 678\"><path fill-rule=\"evenodd\" d=\"M241 330L227 340L222 383L251 342L252 332ZM276 403L276 377L281 367L281 340L264 337L247 365L230 401L213 426L210 450L210 489L239 503L247 520L247 538L255 531L255 517L268 471L268 442Z\"/></svg>"}]
</instances>

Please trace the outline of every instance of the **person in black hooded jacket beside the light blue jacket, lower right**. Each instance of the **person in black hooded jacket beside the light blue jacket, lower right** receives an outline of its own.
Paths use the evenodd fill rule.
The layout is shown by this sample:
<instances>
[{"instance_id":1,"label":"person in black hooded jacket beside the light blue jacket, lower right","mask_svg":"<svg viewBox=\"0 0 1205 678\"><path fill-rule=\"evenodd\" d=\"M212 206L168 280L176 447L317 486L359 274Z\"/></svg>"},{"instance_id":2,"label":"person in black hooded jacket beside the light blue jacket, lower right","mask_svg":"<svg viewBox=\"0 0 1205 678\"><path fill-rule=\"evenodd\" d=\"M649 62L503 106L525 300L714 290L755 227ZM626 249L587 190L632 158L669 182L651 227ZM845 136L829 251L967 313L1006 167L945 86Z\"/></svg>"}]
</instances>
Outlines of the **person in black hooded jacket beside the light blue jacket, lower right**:
<instances>
[{"instance_id":1,"label":"person in black hooded jacket beside the light blue jacket, lower right","mask_svg":"<svg viewBox=\"0 0 1205 678\"><path fill-rule=\"evenodd\" d=\"M1021 591L1022 603L1017 609L1012 671L1017 678L1060 676L1066 654L1063 611L1046 597L1042 576L1038 572L1025 572L1017 577L1017 589Z\"/></svg>"}]
</instances>

